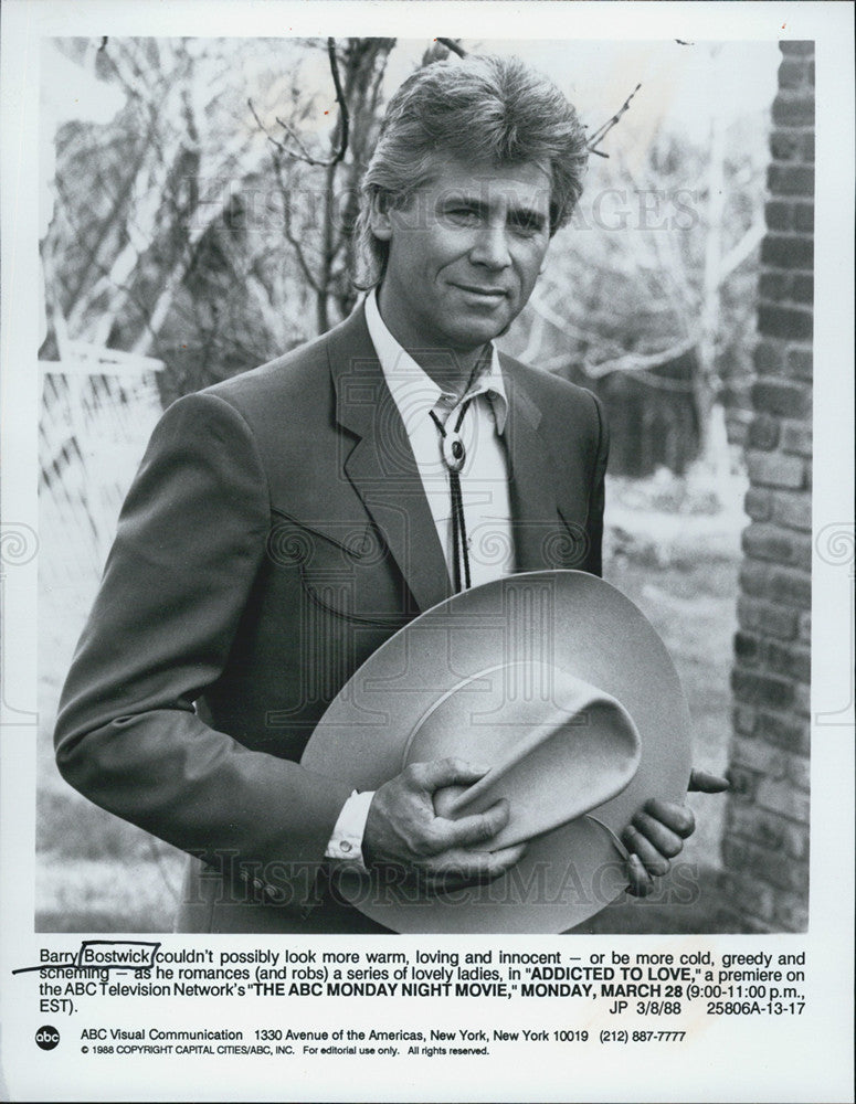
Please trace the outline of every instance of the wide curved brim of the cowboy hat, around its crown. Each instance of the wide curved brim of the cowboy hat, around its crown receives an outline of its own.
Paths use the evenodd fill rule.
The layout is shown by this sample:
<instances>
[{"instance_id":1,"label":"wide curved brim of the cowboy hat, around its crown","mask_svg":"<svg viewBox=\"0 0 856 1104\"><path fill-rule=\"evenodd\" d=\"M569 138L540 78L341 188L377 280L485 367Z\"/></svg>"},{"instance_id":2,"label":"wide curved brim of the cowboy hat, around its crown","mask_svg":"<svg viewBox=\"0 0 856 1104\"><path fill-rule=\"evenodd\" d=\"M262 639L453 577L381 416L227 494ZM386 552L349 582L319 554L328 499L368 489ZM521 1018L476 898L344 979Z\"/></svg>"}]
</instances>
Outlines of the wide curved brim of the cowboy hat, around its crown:
<instances>
[{"instance_id":1,"label":"wide curved brim of the cowboy hat, around its crown","mask_svg":"<svg viewBox=\"0 0 856 1104\"><path fill-rule=\"evenodd\" d=\"M638 768L590 815L530 840L524 858L488 884L424 896L382 877L342 878L350 902L393 931L554 934L574 927L627 885L611 834L620 835L648 799L683 802L686 794L689 713L674 664L630 598L577 571L510 575L423 613L340 690L303 765L358 790L377 789L401 772L408 735L437 693L497 657L551 664L617 699L638 730Z\"/></svg>"}]
</instances>

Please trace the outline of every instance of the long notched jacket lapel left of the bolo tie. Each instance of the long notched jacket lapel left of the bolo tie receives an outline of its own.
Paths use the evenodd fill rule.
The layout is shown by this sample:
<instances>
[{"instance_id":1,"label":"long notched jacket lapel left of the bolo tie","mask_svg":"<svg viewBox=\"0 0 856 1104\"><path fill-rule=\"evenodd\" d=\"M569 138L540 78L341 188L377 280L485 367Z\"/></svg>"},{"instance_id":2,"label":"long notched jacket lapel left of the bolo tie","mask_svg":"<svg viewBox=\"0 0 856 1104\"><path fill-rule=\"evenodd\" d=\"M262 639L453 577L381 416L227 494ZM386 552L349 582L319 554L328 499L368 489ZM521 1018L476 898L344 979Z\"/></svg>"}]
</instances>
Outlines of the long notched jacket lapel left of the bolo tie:
<instances>
[{"instance_id":1,"label":"long notched jacket lapel left of the bolo tie","mask_svg":"<svg viewBox=\"0 0 856 1104\"><path fill-rule=\"evenodd\" d=\"M381 531L419 609L427 609L452 593L448 571L362 307L331 333L329 360L336 418L358 438L344 457L345 473Z\"/></svg>"}]
</instances>

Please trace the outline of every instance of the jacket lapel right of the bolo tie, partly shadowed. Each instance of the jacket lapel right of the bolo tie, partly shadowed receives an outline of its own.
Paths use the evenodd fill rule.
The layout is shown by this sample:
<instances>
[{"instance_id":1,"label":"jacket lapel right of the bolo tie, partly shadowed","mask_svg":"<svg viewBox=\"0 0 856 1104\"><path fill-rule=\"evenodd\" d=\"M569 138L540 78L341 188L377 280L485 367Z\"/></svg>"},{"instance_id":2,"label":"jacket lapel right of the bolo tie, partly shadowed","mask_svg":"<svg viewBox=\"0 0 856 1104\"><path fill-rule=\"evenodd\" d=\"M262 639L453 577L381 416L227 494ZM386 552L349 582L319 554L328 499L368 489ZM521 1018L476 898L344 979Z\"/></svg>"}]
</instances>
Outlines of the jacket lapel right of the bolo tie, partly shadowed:
<instances>
[{"instance_id":1,"label":"jacket lapel right of the bolo tie, partly shadowed","mask_svg":"<svg viewBox=\"0 0 856 1104\"><path fill-rule=\"evenodd\" d=\"M501 361L501 358L500 358ZM541 413L517 375L504 364L508 397L506 447L511 498L511 529L518 571L561 566L558 552L563 534L556 493L556 464L539 426Z\"/></svg>"}]
</instances>

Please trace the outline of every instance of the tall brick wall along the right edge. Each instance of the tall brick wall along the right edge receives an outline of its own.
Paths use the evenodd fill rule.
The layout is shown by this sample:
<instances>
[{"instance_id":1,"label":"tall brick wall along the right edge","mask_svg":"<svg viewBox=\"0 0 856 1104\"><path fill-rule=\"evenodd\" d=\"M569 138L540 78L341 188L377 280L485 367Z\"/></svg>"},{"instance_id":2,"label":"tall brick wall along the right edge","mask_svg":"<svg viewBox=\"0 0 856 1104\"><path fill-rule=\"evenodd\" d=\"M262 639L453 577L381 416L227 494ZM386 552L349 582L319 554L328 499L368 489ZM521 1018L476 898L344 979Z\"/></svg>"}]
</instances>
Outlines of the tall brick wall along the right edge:
<instances>
[{"instance_id":1,"label":"tall brick wall along the right edge","mask_svg":"<svg viewBox=\"0 0 856 1104\"><path fill-rule=\"evenodd\" d=\"M803 931L809 910L814 43L780 49L722 839L747 931Z\"/></svg>"}]
</instances>

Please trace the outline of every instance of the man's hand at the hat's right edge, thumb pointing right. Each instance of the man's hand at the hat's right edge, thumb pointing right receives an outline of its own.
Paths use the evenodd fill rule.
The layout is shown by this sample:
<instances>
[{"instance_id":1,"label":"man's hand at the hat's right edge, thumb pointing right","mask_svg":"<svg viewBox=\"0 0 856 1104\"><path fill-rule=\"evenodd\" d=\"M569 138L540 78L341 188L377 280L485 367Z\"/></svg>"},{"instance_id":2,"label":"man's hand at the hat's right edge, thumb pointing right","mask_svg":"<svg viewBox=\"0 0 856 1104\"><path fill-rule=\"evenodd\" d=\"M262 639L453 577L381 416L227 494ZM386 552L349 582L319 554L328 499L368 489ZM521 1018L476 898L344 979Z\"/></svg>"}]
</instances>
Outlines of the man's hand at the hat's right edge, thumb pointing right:
<instances>
[{"instance_id":1,"label":"man's hand at the hat's right edge, thumb pointing right","mask_svg":"<svg viewBox=\"0 0 856 1104\"><path fill-rule=\"evenodd\" d=\"M705 771L693 771L688 790L701 794L721 794L728 789L727 778ZM633 896L646 896L654 888L654 879L668 873L670 860L680 854L684 840L696 830L696 818L686 805L675 802L647 802L622 832L631 852L627 863Z\"/></svg>"}]
</instances>

